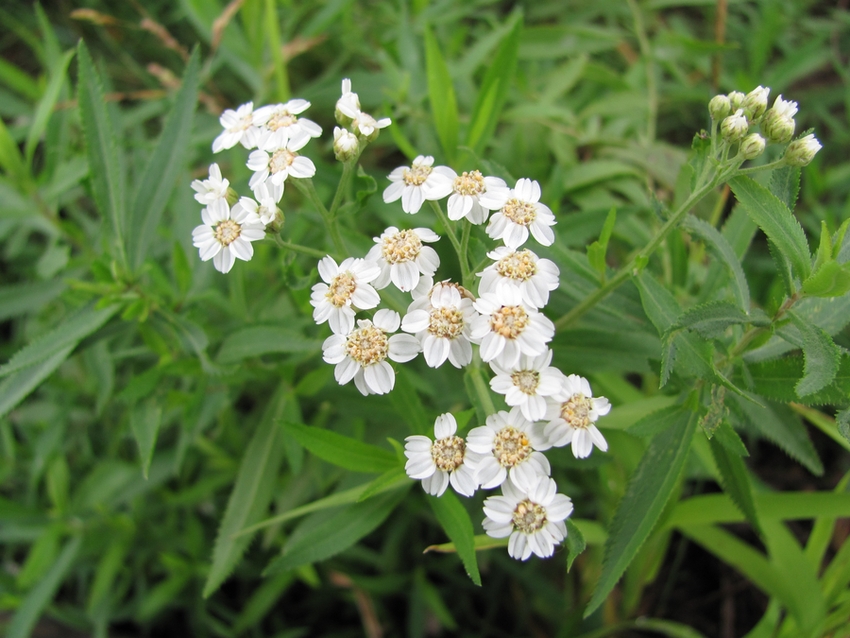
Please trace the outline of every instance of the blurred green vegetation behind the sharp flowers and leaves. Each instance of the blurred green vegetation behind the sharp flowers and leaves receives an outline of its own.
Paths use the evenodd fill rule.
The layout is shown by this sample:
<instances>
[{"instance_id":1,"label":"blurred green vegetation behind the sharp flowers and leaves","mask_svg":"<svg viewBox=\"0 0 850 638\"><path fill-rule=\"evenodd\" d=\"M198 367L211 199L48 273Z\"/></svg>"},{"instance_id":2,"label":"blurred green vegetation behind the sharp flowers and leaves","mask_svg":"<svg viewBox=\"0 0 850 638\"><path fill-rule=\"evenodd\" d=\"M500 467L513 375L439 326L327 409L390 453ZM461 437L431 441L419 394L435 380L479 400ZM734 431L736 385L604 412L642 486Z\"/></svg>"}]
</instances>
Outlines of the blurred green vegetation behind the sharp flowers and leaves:
<instances>
[{"instance_id":1,"label":"blurred green vegetation behind the sharp flowers and leaves","mask_svg":"<svg viewBox=\"0 0 850 638\"><path fill-rule=\"evenodd\" d=\"M612 207L618 217L608 259L616 265L646 243L657 211L681 199L680 169L693 135L708 126L706 104L717 92L764 85L771 100L781 93L799 102L798 131L814 128L824 149L803 171L798 218L814 237L821 222L830 231L840 226L850 215L846 2L57 0L3 3L0 25L0 116L9 140L0 149L0 357L68 325L62 322L94 301L120 309L65 342L71 349L52 368L39 364L30 377L0 385L0 625L7 623L8 635L590 638L654 631L726 638L745 635L766 611L778 622L784 612L769 603L773 592L741 569L750 555L706 551L669 526L650 537L605 605L582 618L601 570L605 527L646 448L624 430L672 403L658 390L658 336L631 287L617 292L612 307L633 322L632 331L600 310L553 342L559 367L588 376L615 406L601 422L607 455L581 463L552 458L560 490L588 521L588 549L569 572L560 552L520 564L503 549L487 550L479 552L484 586L476 587L456 556L423 555L446 537L416 488L376 531L326 562L261 577L285 542L322 529L336 510L265 527L250 544L245 536L244 557L236 552L230 577L211 587L219 525L264 423L284 418L385 445L386 437L401 440L419 427L405 422L411 410L429 415L427 422L469 401L454 370L427 370L422 361L404 369L388 396L364 400L352 386L336 385L321 362L325 332L310 318L315 259L263 242L250 263L220 276L192 247L200 206L189 184L206 176L223 109L303 97L312 102L306 115L325 131L305 152L329 198L340 172L330 151L333 108L340 80L350 77L363 108L394 122L364 154L367 174L356 180L357 205L344 220L346 241L362 255L388 224L411 223L373 196L384 176L416 154L445 160L428 101L426 30L447 61L462 129L491 65L507 59L496 56L500 45L517 34L515 58L496 69L510 78L498 122L476 148L461 149L455 167L478 160L505 178L540 181L558 218L556 245L543 251L562 269L562 289L547 308L554 319L587 290L566 264L583 257ZM94 203L78 60L65 53L81 39L104 82L127 192L137 202L160 189L167 197L145 259L131 273L116 266ZM180 160L151 192L137 194L196 46L199 102L175 150ZM244 191L242 149L216 161ZM718 193L700 212L722 222L731 211L727 198ZM285 236L329 248L320 218L294 189L282 207ZM426 211L415 222L436 223ZM472 246L483 256L484 243ZM456 275L447 248L438 248L442 272ZM757 237L743 250L754 302L775 310L784 288L766 242ZM652 267L683 305L699 300L710 270L705 251L684 234L667 241ZM403 307L401 297L397 303ZM841 308L834 339L850 348L850 309ZM792 428L796 442L743 433L755 489L843 490L848 444L824 434L835 429L831 413L806 406L786 412L785 422L799 426ZM140 454L133 428L154 414L158 432ZM278 447L253 520L363 482L291 437ZM682 496L719 490L705 455L694 451L677 489ZM481 498L473 511L480 512ZM806 560L821 577L814 583L826 600L823 627L850 635L842 622L850 616L847 519L788 518L807 518L789 523L791 542L817 542ZM748 524L725 529L762 547ZM795 567L783 568L794 582ZM809 581L801 582L806 590Z\"/></svg>"}]
</instances>

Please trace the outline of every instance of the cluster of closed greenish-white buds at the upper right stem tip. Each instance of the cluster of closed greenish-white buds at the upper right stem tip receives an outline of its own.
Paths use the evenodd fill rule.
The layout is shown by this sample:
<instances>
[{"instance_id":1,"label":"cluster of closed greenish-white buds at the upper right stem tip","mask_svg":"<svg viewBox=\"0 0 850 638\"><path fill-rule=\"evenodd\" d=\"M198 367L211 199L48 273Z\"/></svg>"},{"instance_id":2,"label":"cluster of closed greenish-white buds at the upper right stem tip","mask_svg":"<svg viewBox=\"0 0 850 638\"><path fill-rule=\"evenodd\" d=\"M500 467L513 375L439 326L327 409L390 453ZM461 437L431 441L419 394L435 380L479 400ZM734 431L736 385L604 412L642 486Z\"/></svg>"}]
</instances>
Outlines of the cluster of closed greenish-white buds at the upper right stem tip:
<instances>
[{"instance_id":1,"label":"cluster of closed greenish-white buds at the upper right stem tip","mask_svg":"<svg viewBox=\"0 0 850 638\"><path fill-rule=\"evenodd\" d=\"M732 91L715 95L708 103L711 119L720 124L723 141L738 144L738 153L745 160L761 155L768 143L788 144L794 136L797 103L783 100L780 95L768 109L769 94L769 88L758 86L747 94ZM751 133L756 125L761 132ZM806 135L788 145L783 161L788 166L806 166L820 148L814 135Z\"/></svg>"}]
</instances>

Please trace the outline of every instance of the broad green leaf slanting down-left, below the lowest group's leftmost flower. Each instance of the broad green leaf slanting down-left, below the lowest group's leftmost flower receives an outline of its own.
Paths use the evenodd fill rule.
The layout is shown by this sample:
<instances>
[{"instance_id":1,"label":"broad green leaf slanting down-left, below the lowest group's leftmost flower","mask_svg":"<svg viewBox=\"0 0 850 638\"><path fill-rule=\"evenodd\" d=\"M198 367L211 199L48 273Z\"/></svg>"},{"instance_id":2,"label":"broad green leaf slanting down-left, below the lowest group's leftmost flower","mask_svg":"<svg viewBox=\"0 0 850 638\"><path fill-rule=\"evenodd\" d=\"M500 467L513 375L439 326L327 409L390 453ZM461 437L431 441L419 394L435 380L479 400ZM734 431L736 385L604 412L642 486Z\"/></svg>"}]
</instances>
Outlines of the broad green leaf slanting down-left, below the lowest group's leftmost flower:
<instances>
[{"instance_id":1,"label":"broad green leaf slanting down-left, below the lowest group's leftmost flower","mask_svg":"<svg viewBox=\"0 0 850 638\"><path fill-rule=\"evenodd\" d=\"M395 490L345 507L318 525L302 525L289 537L283 555L269 563L263 576L325 560L348 549L383 523L405 494L406 489Z\"/></svg>"}]
</instances>

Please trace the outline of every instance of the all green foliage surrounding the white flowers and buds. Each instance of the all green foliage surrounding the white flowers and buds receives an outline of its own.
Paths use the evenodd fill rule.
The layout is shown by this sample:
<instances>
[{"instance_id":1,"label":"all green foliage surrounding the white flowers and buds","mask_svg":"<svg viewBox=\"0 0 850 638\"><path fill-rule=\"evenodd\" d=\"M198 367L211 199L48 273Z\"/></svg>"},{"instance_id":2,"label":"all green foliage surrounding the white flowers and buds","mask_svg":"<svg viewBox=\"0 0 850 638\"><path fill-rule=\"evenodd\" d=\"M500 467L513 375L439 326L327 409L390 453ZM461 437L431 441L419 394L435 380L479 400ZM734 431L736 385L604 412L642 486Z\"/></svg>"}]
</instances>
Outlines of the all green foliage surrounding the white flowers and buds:
<instances>
[{"instance_id":1,"label":"all green foliage surrounding the white flowers and buds","mask_svg":"<svg viewBox=\"0 0 850 638\"><path fill-rule=\"evenodd\" d=\"M0 9L6 635L48 619L96 636L720 635L711 614L662 613L681 538L761 592L764 615L741 635L848 635L836 520L850 517L850 12L805 0L224 9ZM552 559L513 561L473 537L482 495L431 499L403 473L399 442L438 414L483 422L467 395L478 372L420 359L389 395L361 397L321 361L315 256L264 241L222 276L192 247L189 184L206 176L224 108L310 100L324 135L305 152L330 200L343 77L394 122L342 209L352 254L390 224L439 231L430 211L411 220L380 200L385 175L417 154L539 180L556 212L541 251L561 268L555 365L614 409L600 421L607 454L550 455L576 505ZM712 190L573 321L687 200L711 96L757 85L798 101L798 132L824 145L801 187L783 169ZM215 161L244 191L243 155ZM296 189L282 208L285 240L332 250ZM473 235L473 262L488 246ZM437 250L457 280L448 242ZM768 446L806 478L763 476ZM785 521L801 519L792 533ZM433 545L443 551L423 554Z\"/></svg>"}]
</instances>

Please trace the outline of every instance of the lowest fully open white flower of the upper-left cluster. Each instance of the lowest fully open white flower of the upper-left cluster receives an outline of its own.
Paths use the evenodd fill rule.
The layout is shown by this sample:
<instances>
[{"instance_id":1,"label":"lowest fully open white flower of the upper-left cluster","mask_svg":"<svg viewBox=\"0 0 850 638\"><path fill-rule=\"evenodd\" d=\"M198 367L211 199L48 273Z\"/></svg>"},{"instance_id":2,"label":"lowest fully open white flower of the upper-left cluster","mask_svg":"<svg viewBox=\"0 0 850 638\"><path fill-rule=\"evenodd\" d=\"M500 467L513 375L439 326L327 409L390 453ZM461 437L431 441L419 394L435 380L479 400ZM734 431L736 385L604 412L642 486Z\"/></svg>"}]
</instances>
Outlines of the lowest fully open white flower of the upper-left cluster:
<instances>
[{"instance_id":1,"label":"lowest fully open white flower of the upper-left cluster","mask_svg":"<svg viewBox=\"0 0 850 638\"><path fill-rule=\"evenodd\" d=\"M223 212L222 212L223 211ZM266 226L254 213L236 204L231 210L205 208L204 223L192 231L192 243L200 250L201 260L213 260L216 270L230 272L236 258L249 261L254 256L252 241L266 236Z\"/></svg>"}]
</instances>

